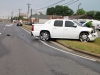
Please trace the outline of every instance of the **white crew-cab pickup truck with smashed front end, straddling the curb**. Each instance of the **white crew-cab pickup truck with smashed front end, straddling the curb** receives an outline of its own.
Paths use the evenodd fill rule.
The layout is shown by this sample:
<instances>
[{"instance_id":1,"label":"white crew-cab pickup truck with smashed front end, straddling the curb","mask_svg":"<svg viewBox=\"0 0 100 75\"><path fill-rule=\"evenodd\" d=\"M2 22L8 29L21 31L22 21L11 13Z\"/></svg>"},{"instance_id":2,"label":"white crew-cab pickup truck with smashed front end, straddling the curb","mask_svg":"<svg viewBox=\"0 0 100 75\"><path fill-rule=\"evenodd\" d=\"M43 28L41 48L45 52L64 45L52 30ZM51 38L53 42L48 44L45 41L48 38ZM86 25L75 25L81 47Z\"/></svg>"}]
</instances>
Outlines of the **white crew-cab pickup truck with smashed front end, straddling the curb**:
<instances>
[{"instance_id":1,"label":"white crew-cab pickup truck with smashed front end, straddling the curb","mask_svg":"<svg viewBox=\"0 0 100 75\"><path fill-rule=\"evenodd\" d=\"M50 38L79 39L82 42L94 41L98 34L92 28L82 27L77 21L51 19L44 24L33 24L31 35L47 41Z\"/></svg>"}]
</instances>

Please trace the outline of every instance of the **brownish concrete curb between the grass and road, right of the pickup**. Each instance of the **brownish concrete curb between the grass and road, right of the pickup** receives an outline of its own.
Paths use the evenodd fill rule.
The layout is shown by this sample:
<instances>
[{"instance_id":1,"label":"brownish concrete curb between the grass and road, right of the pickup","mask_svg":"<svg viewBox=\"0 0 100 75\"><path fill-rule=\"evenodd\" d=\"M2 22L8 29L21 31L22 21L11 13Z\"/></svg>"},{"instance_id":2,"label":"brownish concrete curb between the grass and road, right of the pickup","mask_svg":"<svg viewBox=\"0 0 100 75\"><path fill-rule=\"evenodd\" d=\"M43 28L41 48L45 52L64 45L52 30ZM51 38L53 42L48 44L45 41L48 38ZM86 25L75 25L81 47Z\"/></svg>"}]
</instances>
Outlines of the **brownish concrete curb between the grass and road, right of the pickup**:
<instances>
[{"instance_id":1,"label":"brownish concrete curb between the grass and road, right of the pickup","mask_svg":"<svg viewBox=\"0 0 100 75\"><path fill-rule=\"evenodd\" d=\"M65 44L63 44L63 43L61 43L61 42L59 42L59 41L55 41L55 42L57 42L57 43L63 45L64 47L67 47L67 48L69 48L69 49L72 49L72 50L74 50L74 51L81 52L81 53L85 53L85 54L88 54L88 55L91 55L91 56L100 58L100 55L98 55L98 54L94 54L94 53L91 53L91 52L83 51L83 50L81 50L81 49L77 49L77 48L74 48L74 47L72 47L72 46L65 45Z\"/></svg>"}]
</instances>

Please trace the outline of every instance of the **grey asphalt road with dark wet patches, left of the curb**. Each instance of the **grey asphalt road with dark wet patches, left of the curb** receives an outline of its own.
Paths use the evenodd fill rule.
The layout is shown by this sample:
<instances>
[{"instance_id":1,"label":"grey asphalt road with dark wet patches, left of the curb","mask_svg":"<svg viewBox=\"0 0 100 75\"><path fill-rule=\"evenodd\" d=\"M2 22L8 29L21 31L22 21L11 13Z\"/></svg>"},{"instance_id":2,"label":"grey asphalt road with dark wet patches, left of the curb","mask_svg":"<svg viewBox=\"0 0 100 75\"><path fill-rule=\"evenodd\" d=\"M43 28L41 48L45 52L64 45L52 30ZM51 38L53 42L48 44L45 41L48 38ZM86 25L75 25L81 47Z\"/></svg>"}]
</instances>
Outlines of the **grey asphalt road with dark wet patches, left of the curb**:
<instances>
[{"instance_id":1,"label":"grey asphalt road with dark wet patches, left of the curb","mask_svg":"<svg viewBox=\"0 0 100 75\"><path fill-rule=\"evenodd\" d=\"M0 23L0 75L100 75L100 62Z\"/></svg>"}]
</instances>

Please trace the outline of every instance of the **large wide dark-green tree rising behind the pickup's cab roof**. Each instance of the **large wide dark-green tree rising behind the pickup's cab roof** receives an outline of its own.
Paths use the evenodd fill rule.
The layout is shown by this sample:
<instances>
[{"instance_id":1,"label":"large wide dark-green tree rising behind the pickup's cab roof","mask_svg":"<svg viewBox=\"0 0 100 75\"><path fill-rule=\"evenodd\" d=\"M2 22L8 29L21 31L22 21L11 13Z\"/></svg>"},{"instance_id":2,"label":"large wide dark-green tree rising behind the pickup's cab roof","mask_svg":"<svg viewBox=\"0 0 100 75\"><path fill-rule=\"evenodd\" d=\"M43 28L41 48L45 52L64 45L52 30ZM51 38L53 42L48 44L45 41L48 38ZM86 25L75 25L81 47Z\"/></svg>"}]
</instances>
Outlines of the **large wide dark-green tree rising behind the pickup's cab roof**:
<instances>
[{"instance_id":1,"label":"large wide dark-green tree rising behind the pickup's cab roof","mask_svg":"<svg viewBox=\"0 0 100 75\"><path fill-rule=\"evenodd\" d=\"M57 5L47 9L47 15L61 15L61 16L71 16L74 11L68 6Z\"/></svg>"}]
</instances>

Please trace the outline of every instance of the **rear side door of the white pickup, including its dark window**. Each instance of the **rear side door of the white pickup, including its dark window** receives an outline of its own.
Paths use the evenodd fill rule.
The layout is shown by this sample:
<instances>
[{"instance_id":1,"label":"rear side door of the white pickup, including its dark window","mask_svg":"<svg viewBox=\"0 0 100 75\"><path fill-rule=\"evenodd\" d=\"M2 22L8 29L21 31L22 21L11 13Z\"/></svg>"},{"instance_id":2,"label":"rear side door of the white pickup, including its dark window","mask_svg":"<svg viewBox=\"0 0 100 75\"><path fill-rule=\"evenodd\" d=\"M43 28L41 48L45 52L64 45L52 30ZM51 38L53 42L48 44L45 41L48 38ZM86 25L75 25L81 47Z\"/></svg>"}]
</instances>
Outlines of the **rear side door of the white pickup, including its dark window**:
<instances>
[{"instance_id":1,"label":"rear side door of the white pickup, including its dark window","mask_svg":"<svg viewBox=\"0 0 100 75\"><path fill-rule=\"evenodd\" d=\"M63 20L54 21L54 27L52 30L53 38L63 38Z\"/></svg>"}]
</instances>

